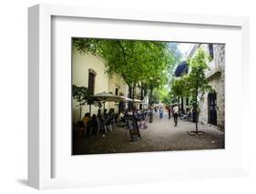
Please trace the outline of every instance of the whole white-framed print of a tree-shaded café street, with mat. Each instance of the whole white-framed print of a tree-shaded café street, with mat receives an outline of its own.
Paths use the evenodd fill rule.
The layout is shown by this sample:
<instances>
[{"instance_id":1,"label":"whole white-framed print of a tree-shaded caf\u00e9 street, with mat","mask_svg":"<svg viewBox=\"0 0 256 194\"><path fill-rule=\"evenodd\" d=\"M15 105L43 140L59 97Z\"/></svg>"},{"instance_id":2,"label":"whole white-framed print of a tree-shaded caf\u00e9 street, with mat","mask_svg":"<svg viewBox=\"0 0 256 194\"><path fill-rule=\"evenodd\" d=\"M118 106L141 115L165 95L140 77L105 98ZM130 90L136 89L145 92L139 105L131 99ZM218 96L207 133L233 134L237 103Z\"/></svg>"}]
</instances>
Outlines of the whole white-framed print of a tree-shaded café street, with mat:
<instances>
[{"instance_id":1,"label":"whole white-framed print of a tree-shaded caf\u00e9 street, with mat","mask_svg":"<svg viewBox=\"0 0 256 194\"><path fill-rule=\"evenodd\" d=\"M29 185L246 175L247 18L28 13Z\"/></svg>"}]
</instances>

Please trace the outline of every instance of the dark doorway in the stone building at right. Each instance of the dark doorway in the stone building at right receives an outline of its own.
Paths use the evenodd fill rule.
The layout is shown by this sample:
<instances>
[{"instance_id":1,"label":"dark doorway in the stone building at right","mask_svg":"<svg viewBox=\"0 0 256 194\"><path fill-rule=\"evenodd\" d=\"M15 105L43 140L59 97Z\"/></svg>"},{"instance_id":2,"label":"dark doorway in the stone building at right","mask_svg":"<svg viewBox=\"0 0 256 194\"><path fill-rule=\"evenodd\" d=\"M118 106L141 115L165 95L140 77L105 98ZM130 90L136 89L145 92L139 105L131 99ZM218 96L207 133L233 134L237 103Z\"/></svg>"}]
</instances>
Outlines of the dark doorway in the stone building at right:
<instances>
[{"instance_id":1,"label":"dark doorway in the stone building at right","mask_svg":"<svg viewBox=\"0 0 256 194\"><path fill-rule=\"evenodd\" d=\"M216 93L208 95L208 123L217 126L217 97Z\"/></svg>"}]
</instances>

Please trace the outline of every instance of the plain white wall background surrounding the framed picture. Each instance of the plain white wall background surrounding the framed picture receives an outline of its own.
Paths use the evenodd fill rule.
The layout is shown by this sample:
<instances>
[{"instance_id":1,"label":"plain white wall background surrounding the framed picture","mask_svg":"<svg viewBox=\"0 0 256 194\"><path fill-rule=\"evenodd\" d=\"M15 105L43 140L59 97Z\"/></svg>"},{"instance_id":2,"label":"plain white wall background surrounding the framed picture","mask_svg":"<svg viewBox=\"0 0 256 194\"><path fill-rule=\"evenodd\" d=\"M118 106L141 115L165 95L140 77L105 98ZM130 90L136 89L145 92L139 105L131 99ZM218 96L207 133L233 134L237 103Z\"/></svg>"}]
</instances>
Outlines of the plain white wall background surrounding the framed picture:
<instances>
[{"instance_id":1,"label":"plain white wall background surrounding the framed picture","mask_svg":"<svg viewBox=\"0 0 256 194\"><path fill-rule=\"evenodd\" d=\"M38 3L64 5L92 5L109 8L142 9L147 11L170 11L175 13L194 13L212 15L247 15L251 16L251 96L248 102L248 126L254 133L247 139L251 145L251 177L240 179L205 179L177 180L164 183L141 185L108 186L87 189L47 190L43 193L255 193L256 142L255 103L256 99L256 12L253 0L158 0L158 1L86 1L86 0L8 0L2 1L0 7L0 54L1 54L1 193L38 193L26 186L27 173L27 7ZM236 106L236 105L234 105ZM243 105L239 105L243 106ZM238 121L239 122L239 121ZM157 155L156 155L157 156ZM115 161L113 161L115 162ZM147 162L147 161L145 161ZM108 164L106 165L108 168ZM158 164L156 164L158 165ZM170 164L171 165L171 164ZM189 161L188 161L189 165ZM86 162L85 162L86 166ZM124 167L125 168L125 167ZM152 167L153 170L153 167ZM111 178L109 178L111 179Z\"/></svg>"}]
</instances>

